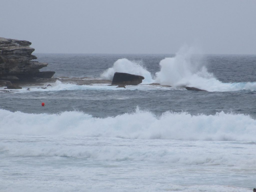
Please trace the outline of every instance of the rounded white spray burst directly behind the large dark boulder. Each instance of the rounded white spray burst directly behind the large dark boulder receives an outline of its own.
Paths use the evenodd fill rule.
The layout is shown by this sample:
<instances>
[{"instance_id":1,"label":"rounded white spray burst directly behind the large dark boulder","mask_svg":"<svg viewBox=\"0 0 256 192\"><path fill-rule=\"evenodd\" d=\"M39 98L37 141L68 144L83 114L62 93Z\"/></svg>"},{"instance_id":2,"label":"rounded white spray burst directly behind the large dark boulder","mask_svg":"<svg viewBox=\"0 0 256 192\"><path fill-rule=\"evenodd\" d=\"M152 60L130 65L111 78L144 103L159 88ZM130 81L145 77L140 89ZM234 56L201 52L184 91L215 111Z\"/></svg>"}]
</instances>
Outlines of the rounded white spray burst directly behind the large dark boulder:
<instances>
[{"instance_id":1,"label":"rounded white spray burst directly behind the large dark boulder","mask_svg":"<svg viewBox=\"0 0 256 192\"><path fill-rule=\"evenodd\" d=\"M145 78L142 81L143 84L153 82L150 72L148 72L143 66L140 65L139 62L136 61L130 61L128 59L118 59L113 64L113 67L108 68L101 74L101 78L112 80L115 72L141 75Z\"/></svg>"}]
</instances>

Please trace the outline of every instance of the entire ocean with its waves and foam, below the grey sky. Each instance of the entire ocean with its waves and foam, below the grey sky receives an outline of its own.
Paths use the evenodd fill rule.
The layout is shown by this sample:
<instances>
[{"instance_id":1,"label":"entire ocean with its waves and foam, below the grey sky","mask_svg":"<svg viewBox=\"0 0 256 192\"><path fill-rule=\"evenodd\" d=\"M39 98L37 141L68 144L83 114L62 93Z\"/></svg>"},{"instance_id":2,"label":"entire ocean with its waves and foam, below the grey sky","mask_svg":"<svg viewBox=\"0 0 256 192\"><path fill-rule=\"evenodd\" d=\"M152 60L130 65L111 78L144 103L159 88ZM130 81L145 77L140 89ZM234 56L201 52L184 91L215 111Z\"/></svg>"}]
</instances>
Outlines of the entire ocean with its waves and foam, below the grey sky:
<instances>
[{"instance_id":1,"label":"entire ocean with its waves and foam, below the grey sky","mask_svg":"<svg viewBox=\"0 0 256 192\"><path fill-rule=\"evenodd\" d=\"M256 187L256 55L34 55L59 80L0 91L0 191ZM62 81L114 72L145 79Z\"/></svg>"}]
</instances>

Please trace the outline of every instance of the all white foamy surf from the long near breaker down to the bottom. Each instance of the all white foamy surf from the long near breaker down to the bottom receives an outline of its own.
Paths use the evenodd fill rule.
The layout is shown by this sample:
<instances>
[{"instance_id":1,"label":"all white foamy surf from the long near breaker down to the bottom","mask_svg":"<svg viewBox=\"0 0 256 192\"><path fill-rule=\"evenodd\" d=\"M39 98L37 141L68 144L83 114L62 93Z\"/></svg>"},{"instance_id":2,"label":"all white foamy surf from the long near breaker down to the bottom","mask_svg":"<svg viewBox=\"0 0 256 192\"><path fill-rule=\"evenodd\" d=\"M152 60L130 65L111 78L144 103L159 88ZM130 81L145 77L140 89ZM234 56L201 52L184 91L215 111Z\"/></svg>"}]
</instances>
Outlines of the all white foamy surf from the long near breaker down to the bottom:
<instances>
[{"instance_id":1,"label":"all white foamy surf from the long near breaker down to the bottom","mask_svg":"<svg viewBox=\"0 0 256 192\"><path fill-rule=\"evenodd\" d=\"M0 191L249 192L254 187L256 122L247 115L156 117L137 108L103 119L77 111L0 109L0 116Z\"/></svg>"}]
</instances>

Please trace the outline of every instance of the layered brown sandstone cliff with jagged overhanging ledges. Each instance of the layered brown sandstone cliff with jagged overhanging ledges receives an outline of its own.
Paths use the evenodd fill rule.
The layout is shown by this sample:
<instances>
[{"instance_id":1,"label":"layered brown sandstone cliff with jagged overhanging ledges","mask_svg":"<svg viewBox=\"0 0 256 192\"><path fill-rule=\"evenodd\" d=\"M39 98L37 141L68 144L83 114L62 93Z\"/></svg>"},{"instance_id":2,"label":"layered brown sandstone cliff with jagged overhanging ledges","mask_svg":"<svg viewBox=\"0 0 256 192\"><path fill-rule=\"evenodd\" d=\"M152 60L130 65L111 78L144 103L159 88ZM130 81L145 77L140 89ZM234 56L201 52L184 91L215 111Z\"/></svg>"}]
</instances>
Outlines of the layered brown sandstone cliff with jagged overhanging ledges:
<instances>
[{"instance_id":1,"label":"layered brown sandstone cliff with jagged overhanging ledges","mask_svg":"<svg viewBox=\"0 0 256 192\"><path fill-rule=\"evenodd\" d=\"M0 81L33 81L54 75L54 71L39 71L48 63L31 61L37 57L31 55L35 49L30 45L29 41L0 37Z\"/></svg>"}]
</instances>

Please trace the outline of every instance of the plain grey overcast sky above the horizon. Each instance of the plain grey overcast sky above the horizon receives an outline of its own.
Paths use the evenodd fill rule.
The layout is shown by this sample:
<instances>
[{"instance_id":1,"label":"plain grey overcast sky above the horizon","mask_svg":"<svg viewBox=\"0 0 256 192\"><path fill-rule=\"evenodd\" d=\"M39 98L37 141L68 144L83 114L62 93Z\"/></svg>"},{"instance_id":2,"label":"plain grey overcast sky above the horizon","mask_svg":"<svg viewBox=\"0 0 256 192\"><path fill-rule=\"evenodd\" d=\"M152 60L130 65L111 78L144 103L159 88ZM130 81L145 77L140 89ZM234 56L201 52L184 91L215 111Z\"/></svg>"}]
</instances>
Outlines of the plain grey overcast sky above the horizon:
<instances>
[{"instance_id":1,"label":"plain grey overcast sky above the horizon","mask_svg":"<svg viewBox=\"0 0 256 192\"><path fill-rule=\"evenodd\" d=\"M256 54L256 0L1 0L0 37L38 53Z\"/></svg>"}]
</instances>

